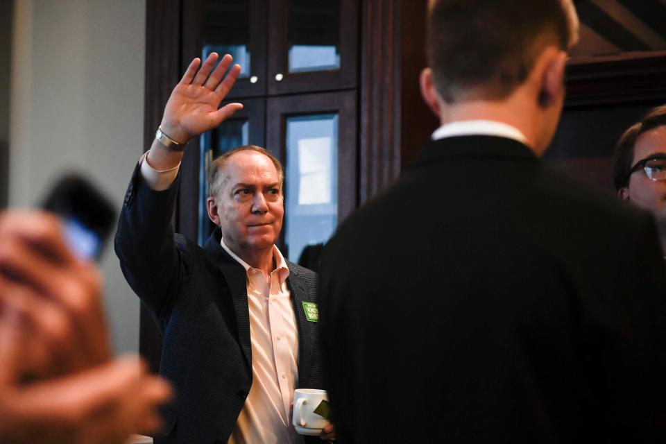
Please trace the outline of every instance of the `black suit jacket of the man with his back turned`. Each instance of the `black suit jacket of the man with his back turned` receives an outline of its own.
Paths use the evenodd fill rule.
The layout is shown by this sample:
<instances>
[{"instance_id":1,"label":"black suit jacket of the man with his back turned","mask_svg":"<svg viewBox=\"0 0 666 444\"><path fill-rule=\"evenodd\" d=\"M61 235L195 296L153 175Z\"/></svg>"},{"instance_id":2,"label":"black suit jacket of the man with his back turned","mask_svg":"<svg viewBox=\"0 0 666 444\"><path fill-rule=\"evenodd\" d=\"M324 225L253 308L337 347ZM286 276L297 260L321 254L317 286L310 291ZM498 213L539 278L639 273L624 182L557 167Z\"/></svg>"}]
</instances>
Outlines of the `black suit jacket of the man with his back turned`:
<instances>
[{"instance_id":1,"label":"black suit jacket of the man with his back turned","mask_svg":"<svg viewBox=\"0 0 666 444\"><path fill-rule=\"evenodd\" d=\"M320 273L345 443L663 442L651 217L499 137L430 142Z\"/></svg>"}]
</instances>

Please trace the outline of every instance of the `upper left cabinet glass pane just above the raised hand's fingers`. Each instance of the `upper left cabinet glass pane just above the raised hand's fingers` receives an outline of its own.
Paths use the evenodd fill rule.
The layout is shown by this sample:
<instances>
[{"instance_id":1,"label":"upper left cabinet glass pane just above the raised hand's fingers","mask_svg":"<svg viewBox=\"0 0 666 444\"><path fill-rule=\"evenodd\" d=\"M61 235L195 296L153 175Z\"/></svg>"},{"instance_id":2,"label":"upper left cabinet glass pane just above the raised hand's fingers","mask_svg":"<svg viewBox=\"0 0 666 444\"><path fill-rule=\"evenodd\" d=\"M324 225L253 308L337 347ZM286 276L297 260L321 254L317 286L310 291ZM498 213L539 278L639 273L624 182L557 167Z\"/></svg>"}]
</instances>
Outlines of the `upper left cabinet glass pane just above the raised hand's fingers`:
<instances>
[{"instance_id":1,"label":"upper left cabinet glass pane just above the raised hand's fingers","mask_svg":"<svg viewBox=\"0 0 666 444\"><path fill-rule=\"evenodd\" d=\"M231 54L241 65L240 78L250 76L250 1L206 0L203 6L203 49L210 53Z\"/></svg>"}]
</instances>

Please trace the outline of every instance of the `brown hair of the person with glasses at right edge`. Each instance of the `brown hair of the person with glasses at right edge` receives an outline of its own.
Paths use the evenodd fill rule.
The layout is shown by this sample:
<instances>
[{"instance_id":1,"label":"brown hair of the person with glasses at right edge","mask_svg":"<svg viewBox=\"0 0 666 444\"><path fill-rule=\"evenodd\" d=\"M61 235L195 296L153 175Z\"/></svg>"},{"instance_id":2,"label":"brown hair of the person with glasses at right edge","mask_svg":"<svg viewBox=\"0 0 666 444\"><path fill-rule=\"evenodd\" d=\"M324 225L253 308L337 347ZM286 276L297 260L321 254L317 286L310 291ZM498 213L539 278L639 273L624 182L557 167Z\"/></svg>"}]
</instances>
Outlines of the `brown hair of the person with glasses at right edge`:
<instances>
[{"instance_id":1,"label":"brown hair of the person with glasses at right edge","mask_svg":"<svg viewBox=\"0 0 666 444\"><path fill-rule=\"evenodd\" d=\"M613 183L615 190L626 186L629 181L629 171L633 167L633 148L638 137L649 130L666 125L666 105L650 110L640 122L634 123L624 132L615 146L613 155Z\"/></svg>"}]
</instances>

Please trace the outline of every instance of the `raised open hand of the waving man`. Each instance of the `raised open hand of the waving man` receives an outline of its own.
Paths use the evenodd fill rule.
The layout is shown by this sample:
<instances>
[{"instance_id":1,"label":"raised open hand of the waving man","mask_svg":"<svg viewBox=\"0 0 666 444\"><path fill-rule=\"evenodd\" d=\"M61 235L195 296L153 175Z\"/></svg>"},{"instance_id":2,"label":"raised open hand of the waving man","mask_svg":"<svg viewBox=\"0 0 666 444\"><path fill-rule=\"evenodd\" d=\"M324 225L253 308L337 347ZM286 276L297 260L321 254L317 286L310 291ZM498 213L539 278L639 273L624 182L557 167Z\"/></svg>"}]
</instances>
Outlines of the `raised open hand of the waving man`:
<instances>
[{"instance_id":1,"label":"raised open hand of the waving man","mask_svg":"<svg viewBox=\"0 0 666 444\"><path fill-rule=\"evenodd\" d=\"M162 131L180 144L219 126L243 108L240 103L230 103L218 109L241 71L239 65L234 65L224 76L232 62L232 57L227 54L211 72L218 58L217 53L212 53L200 68L200 60L192 60L167 101Z\"/></svg>"}]
</instances>

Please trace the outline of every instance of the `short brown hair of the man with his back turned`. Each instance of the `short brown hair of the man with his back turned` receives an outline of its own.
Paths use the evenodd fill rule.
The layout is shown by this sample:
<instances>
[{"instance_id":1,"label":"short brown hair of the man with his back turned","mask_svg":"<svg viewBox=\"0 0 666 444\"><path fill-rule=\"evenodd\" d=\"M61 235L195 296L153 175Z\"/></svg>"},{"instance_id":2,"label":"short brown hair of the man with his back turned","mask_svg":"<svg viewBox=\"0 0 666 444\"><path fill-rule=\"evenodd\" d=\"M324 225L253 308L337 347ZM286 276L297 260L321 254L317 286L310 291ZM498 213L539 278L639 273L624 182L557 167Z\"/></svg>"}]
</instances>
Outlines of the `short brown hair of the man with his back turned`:
<instances>
[{"instance_id":1,"label":"short brown hair of the man with his back turned","mask_svg":"<svg viewBox=\"0 0 666 444\"><path fill-rule=\"evenodd\" d=\"M578 38L570 0L432 0L427 55L442 99L503 99L527 79L547 44ZM476 97L475 97L476 98Z\"/></svg>"}]
</instances>

